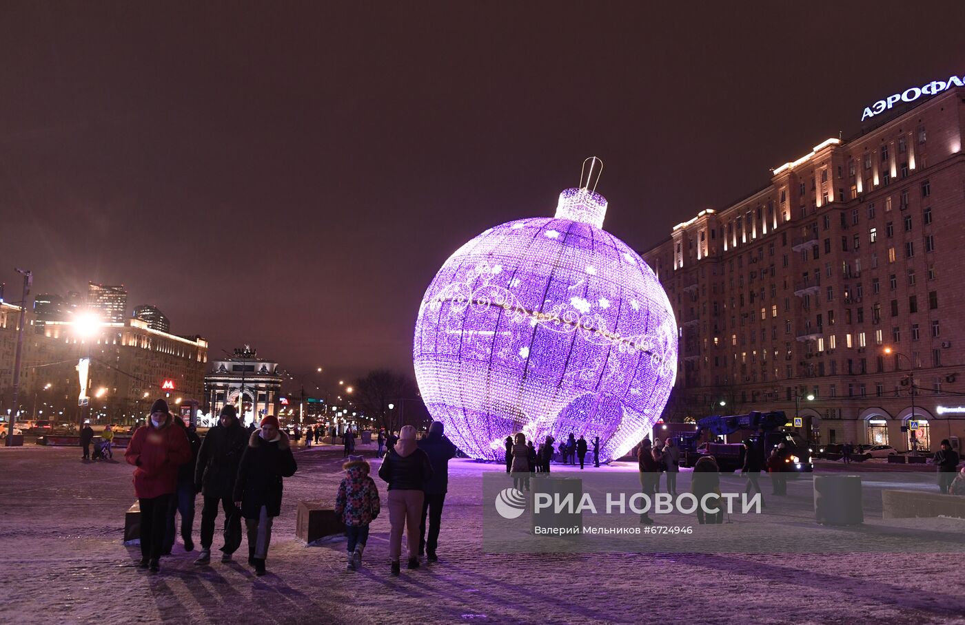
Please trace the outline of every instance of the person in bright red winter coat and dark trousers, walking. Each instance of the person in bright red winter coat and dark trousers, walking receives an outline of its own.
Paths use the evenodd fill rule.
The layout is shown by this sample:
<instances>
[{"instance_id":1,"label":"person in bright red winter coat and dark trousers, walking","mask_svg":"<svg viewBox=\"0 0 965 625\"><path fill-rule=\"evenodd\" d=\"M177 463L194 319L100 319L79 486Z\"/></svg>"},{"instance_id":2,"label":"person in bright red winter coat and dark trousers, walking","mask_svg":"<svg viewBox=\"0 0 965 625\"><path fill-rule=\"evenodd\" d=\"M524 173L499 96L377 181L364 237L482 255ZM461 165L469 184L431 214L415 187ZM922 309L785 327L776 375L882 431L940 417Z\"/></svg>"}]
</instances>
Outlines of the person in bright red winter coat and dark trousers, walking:
<instances>
[{"instance_id":1,"label":"person in bright red winter coat and dark trousers, walking","mask_svg":"<svg viewBox=\"0 0 965 625\"><path fill-rule=\"evenodd\" d=\"M191 446L184 430L172 427L168 404L151 406L149 425L138 428L124 457L133 464L134 493L141 508L141 568L160 569L165 518L178 487L178 467L191 461Z\"/></svg>"}]
</instances>

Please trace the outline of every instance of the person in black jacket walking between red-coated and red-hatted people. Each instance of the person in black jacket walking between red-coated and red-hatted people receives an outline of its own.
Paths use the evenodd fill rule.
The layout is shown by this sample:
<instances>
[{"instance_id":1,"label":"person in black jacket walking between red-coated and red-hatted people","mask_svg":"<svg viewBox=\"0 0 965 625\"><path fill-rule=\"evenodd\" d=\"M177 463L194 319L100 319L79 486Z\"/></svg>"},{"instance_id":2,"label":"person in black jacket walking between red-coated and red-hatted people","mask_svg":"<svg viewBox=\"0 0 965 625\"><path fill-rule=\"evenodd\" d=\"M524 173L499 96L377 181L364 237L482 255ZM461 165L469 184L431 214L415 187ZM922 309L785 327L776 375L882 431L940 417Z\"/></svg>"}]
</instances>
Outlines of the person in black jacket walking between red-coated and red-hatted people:
<instances>
[{"instance_id":1,"label":"person in black jacket walking between red-coated and red-hatted people","mask_svg":"<svg viewBox=\"0 0 965 625\"><path fill-rule=\"evenodd\" d=\"M227 549L229 535L241 535L241 511L234 506L234 479L238 464L248 447L250 434L241 427L234 405L221 408L218 425L207 430L198 461L194 469L195 492L201 492L204 506L201 508L201 555L195 564L211 561L211 542L214 539L214 521L218 517L218 505L225 513L224 535L226 546L221 548L221 560L232 560L234 547ZM249 545L249 559L254 559L254 547Z\"/></svg>"}]
</instances>

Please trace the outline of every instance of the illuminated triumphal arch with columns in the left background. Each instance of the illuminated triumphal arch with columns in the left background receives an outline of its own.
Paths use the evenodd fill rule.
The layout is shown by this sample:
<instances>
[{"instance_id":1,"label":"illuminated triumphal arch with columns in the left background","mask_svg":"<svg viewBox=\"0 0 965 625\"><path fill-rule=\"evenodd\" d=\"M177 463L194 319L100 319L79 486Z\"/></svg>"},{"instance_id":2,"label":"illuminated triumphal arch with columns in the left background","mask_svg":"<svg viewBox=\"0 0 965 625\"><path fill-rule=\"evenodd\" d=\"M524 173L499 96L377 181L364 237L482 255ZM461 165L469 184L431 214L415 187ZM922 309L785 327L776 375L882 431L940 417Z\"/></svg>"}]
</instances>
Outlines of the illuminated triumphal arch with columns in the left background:
<instances>
[{"instance_id":1,"label":"illuminated triumphal arch with columns in the left background","mask_svg":"<svg viewBox=\"0 0 965 625\"><path fill-rule=\"evenodd\" d=\"M232 404L248 425L265 415L277 415L282 394L282 372L278 363L258 357L247 345L234 355L211 362L205 377L205 394L210 414L217 415Z\"/></svg>"}]
</instances>

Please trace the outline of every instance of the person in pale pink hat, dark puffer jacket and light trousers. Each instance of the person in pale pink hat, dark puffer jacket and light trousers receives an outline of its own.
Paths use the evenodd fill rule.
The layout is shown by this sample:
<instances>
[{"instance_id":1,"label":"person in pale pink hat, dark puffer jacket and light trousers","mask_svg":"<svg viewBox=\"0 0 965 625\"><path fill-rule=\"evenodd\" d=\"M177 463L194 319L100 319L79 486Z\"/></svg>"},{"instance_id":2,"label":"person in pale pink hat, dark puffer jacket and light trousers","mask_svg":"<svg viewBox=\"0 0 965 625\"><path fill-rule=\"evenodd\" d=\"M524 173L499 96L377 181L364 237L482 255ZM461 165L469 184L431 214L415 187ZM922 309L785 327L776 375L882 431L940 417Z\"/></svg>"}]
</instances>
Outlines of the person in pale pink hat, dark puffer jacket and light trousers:
<instances>
[{"instance_id":1,"label":"person in pale pink hat, dark puffer jacket and light trousers","mask_svg":"<svg viewBox=\"0 0 965 625\"><path fill-rule=\"evenodd\" d=\"M416 429L403 426L399 442L378 468L378 477L389 484L389 560L393 575L399 575L403 529L408 538L407 567L419 568L419 522L426 499L423 488L431 476L428 456L416 444Z\"/></svg>"}]
</instances>

